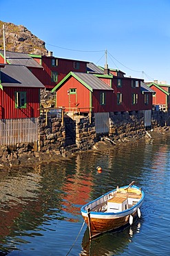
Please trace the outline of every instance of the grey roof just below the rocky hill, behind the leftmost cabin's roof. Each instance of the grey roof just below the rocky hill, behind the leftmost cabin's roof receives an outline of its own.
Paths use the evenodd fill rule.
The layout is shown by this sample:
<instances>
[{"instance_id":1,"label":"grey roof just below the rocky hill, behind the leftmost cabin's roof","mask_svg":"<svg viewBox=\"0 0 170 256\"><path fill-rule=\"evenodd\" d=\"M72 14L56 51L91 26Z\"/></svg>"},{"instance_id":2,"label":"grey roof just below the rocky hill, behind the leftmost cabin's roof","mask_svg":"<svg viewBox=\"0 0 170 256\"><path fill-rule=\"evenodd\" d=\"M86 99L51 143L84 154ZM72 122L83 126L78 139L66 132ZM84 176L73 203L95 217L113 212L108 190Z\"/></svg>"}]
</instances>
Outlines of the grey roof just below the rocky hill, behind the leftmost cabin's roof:
<instances>
[{"instance_id":1,"label":"grey roof just below the rocky hill, behind the leftmost cabin's roof","mask_svg":"<svg viewBox=\"0 0 170 256\"><path fill-rule=\"evenodd\" d=\"M1 55L4 55L4 52L0 50ZM43 68L36 60L32 59L30 55L26 53L14 53L6 51L6 61L9 64L27 66L29 68Z\"/></svg>"}]
</instances>

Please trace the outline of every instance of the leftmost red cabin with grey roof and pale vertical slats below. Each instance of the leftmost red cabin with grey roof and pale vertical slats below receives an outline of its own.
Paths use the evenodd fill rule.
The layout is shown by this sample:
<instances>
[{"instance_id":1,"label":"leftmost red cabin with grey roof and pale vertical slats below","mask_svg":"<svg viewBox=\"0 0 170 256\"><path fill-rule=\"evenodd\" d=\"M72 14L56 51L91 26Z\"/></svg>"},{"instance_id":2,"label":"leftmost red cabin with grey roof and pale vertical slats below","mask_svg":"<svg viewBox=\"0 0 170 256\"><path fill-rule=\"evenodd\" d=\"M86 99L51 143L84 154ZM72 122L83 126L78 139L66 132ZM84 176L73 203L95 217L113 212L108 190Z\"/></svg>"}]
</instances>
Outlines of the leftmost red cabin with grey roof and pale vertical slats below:
<instances>
[{"instance_id":1,"label":"leftmost red cabin with grey roof and pale vertical slats below","mask_svg":"<svg viewBox=\"0 0 170 256\"><path fill-rule=\"evenodd\" d=\"M38 140L40 89L43 84L26 66L0 67L0 145Z\"/></svg>"}]
</instances>

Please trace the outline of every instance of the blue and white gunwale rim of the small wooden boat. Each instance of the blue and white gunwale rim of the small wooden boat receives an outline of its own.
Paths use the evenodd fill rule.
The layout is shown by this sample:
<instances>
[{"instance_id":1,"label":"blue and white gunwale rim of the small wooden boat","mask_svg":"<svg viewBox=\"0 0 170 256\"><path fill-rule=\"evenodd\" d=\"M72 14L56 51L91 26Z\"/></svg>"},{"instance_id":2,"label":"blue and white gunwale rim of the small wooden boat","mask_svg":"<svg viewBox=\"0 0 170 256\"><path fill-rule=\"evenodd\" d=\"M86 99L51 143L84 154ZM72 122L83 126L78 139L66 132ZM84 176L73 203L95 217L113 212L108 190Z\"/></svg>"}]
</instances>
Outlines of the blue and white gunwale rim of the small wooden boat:
<instances>
[{"instance_id":1,"label":"blue and white gunwale rim of the small wooden boat","mask_svg":"<svg viewBox=\"0 0 170 256\"><path fill-rule=\"evenodd\" d=\"M125 186L123 186L123 187L120 187L120 189L122 189L122 188L128 188L129 187L129 185L125 185ZM131 188L136 188L136 189L138 189L138 190L140 190L140 188L138 187L138 186L136 186L136 185L132 185L131 186ZM107 194L110 194L111 192L115 192L116 191L116 189L114 189L114 190L111 190L111 191L109 191L109 192L107 192L107 193L105 193L105 194L103 194L102 196L99 196L98 198L96 198L96 199L94 199L93 201L90 201L89 203L86 203L85 205L83 205L82 207L81 207L81 213L83 214L83 216L85 217L85 215L87 214L87 210L85 210L85 207L86 206L88 206L89 204L91 204L91 203L94 203L95 201L97 201L98 199L101 199L101 198L103 198L104 196L106 196ZM129 214L129 212L131 212L131 210L132 210L132 212L134 212L134 209L137 207L138 208L138 205L140 205L140 203L143 201L143 199L144 199L144 197L145 197L145 192L143 192L142 190L141 190L141 193L142 193L142 196L141 196L141 199L138 201L138 203L136 203L135 205L133 205L131 208L129 208L129 209L127 209L127 210L123 210L123 211L121 211L121 212L93 212L93 211L91 211L90 210L90 214L94 214L94 215L101 215L101 216L106 216L106 215L119 215L119 214L125 214L126 212L127 212L127 214ZM108 200L107 200L108 201ZM107 202L106 201L106 202Z\"/></svg>"}]
</instances>

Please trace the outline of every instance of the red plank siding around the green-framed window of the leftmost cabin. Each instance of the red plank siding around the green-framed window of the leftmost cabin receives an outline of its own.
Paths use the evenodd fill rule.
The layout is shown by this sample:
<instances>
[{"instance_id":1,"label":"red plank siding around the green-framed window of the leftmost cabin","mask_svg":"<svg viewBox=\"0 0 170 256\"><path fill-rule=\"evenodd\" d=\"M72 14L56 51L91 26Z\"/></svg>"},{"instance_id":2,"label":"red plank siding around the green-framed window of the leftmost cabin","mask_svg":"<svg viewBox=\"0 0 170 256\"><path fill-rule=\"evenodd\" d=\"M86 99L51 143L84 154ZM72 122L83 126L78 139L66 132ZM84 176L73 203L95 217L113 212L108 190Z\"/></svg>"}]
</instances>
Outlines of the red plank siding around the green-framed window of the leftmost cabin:
<instances>
[{"instance_id":1,"label":"red plank siding around the green-framed window of the leftmost cabin","mask_svg":"<svg viewBox=\"0 0 170 256\"><path fill-rule=\"evenodd\" d=\"M26 108L16 108L15 91L26 92ZM39 88L5 87L0 90L0 119L39 117Z\"/></svg>"}]
</instances>

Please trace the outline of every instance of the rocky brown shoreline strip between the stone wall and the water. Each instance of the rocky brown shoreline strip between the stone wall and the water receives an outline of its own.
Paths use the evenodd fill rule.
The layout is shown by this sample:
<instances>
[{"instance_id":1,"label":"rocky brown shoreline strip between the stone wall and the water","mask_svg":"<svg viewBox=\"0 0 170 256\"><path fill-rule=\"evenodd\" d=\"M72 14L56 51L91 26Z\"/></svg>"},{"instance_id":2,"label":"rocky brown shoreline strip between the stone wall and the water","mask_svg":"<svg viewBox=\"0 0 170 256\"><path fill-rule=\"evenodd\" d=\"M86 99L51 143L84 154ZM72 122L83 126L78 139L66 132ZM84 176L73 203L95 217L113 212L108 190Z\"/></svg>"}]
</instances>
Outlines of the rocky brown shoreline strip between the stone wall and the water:
<instances>
[{"instance_id":1,"label":"rocky brown shoreline strip between the stone wall and the water","mask_svg":"<svg viewBox=\"0 0 170 256\"><path fill-rule=\"evenodd\" d=\"M169 127L157 127L154 130L146 131L145 136L136 137L125 137L120 138L116 143L110 140L108 137L100 137L98 142L89 149L88 151L98 151L103 152L105 150L111 149L111 147L120 147L125 143L136 143L139 140L148 140L158 138L158 136L169 136ZM22 145L21 145L22 146ZM25 148L25 145L24 145ZM22 147L17 152L10 151L8 147L1 146L0 148L0 170L1 171L11 171L11 170L25 170L34 169L38 165L47 165L49 163L58 163L59 161L64 161L65 158L72 158L75 154L80 154L81 152L87 152L78 149L76 145L72 147L66 147L63 152L58 149L47 149L46 152L32 152L23 151Z\"/></svg>"}]
</instances>

